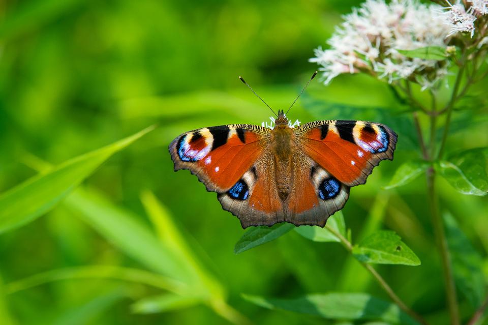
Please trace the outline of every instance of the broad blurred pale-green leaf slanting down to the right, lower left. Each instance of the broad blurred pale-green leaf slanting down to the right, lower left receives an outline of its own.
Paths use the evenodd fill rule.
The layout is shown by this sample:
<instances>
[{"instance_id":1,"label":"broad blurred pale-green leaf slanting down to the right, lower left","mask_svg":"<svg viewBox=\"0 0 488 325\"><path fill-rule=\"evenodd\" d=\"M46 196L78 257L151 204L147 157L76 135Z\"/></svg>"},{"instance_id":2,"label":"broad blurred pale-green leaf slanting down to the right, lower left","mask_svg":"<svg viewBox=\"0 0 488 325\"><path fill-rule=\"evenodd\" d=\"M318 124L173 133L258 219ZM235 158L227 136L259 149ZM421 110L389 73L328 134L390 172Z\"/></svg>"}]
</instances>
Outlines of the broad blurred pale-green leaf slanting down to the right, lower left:
<instances>
[{"instance_id":1,"label":"broad blurred pale-green leaf slanting down to the right, lower left","mask_svg":"<svg viewBox=\"0 0 488 325\"><path fill-rule=\"evenodd\" d=\"M194 279L193 271L181 262L177 252L161 243L139 217L114 206L101 194L79 188L65 204L117 249L149 269L186 284Z\"/></svg>"}]
</instances>

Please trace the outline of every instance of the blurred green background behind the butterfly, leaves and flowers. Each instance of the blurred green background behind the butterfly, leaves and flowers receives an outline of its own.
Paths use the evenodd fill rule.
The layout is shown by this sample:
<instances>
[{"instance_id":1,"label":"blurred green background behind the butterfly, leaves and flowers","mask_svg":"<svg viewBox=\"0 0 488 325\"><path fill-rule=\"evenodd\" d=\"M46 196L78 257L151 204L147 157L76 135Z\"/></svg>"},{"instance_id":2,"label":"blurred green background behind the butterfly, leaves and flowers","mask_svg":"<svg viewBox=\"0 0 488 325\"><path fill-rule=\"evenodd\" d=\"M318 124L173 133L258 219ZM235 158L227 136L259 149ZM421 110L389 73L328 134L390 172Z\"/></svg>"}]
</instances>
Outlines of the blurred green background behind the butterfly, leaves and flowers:
<instances>
[{"instance_id":1,"label":"blurred green background behind the butterfly, leaves and flowers","mask_svg":"<svg viewBox=\"0 0 488 325\"><path fill-rule=\"evenodd\" d=\"M80 1L0 2L0 192L37 173L149 125L158 128L103 164L85 182L114 206L153 227L140 194L155 193L205 268L222 283L228 304L256 323L328 323L269 311L241 293L295 297L303 293L371 292L388 300L340 245L313 243L291 232L235 255L244 232L215 193L188 171L174 173L167 147L178 134L233 123L261 124L270 112L238 80L243 76L275 109L287 108L317 68L313 49L325 46L341 15L359 2ZM289 114L292 120L365 119L400 135L393 162L351 190L344 208L354 238L390 228L417 253L420 267L381 266L404 301L429 319L446 319L425 181L382 190L395 168L418 152L409 115L385 84L341 76L317 80ZM464 115L463 115L464 116ZM486 146L486 122L461 116L450 151ZM463 120L463 118L465 120ZM443 182L443 181L441 181ZM445 185L445 186L444 186ZM461 196L442 183L449 209L479 252L488 250L486 199ZM99 216L104 218L103 215ZM130 235L125 238L131 241ZM132 239L134 240L134 239ZM82 265L146 269L73 210L47 215L0 236L3 283ZM485 273L488 269L486 258ZM20 324L228 323L202 304L134 313L131 305L159 291L110 279L66 279L6 293L6 317ZM1 305L1 304L0 304ZM2 308L0 308L2 309ZM461 297L463 315L473 309ZM10 315L10 316L8 316ZM330 323L333 323L332 321Z\"/></svg>"}]
</instances>

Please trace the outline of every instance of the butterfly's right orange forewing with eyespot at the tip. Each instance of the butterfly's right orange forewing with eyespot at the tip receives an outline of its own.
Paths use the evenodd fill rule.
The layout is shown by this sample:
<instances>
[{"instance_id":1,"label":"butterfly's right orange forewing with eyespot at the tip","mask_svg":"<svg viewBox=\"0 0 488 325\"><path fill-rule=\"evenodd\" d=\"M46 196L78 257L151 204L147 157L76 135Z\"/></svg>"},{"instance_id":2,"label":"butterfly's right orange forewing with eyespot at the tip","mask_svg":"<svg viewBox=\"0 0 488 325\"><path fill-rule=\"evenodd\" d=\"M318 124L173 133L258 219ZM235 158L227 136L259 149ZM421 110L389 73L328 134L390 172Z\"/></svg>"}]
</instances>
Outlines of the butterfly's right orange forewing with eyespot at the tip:
<instances>
[{"instance_id":1,"label":"butterfly's right orange forewing with eyespot at the tip","mask_svg":"<svg viewBox=\"0 0 488 325\"><path fill-rule=\"evenodd\" d=\"M364 184L381 160L393 159L397 135L383 124L317 121L293 129L301 150L347 186Z\"/></svg>"}]
</instances>

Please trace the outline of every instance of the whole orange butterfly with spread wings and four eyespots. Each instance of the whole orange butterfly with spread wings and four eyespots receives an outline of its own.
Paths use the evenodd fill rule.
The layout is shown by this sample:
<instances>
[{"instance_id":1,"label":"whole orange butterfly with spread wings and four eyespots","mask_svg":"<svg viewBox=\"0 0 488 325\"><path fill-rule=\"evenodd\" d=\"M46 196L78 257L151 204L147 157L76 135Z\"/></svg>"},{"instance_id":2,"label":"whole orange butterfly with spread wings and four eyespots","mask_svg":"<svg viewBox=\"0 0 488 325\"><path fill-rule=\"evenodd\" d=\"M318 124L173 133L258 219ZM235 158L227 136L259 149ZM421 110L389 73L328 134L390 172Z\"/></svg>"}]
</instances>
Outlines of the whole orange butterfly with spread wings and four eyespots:
<instances>
[{"instance_id":1,"label":"whole orange butterfly with spread wings and four eyespots","mask_svg":"<svg viewBox=\"0 0 488 325\"><path fill-rule=\"evenodd\" d=\"M242 228L284 221L323 227L343 208L351 187L364 184L380 161L393 159L397 135L386 125L331 120L292 128L283 110L277 115L273 129L201 128L169 145L174 170L189 169L207 191L217 192Z\"/></svg>"}]
</instances>

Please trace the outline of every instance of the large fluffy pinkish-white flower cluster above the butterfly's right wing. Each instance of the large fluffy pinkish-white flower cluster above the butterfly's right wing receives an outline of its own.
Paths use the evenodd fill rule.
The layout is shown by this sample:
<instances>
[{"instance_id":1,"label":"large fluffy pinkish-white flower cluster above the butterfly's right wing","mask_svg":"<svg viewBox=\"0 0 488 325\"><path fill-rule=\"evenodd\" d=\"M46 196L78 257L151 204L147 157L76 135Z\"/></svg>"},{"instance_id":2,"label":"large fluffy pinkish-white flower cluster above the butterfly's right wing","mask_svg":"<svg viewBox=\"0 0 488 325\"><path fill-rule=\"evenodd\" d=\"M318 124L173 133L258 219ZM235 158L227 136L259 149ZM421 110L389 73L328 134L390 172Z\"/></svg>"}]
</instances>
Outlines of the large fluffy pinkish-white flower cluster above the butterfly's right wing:
<instances>
[{"instance_id":1,"label":"large fluffy pinkish-white flower cluster above the butterfly's right wing","mask_svg":"<svg viewBox=\"0 0 488 325\"><path fill-rule=\"evenodd\" d=\"M325 84L339 74L362 71L387 78L389 83L415 73L423 88L431 87L447 73L446 64L410 58L398 50L445 47L449 31L439 15L440 8L415 0L393 0L389 4L368 0L344 17L327 42L330 49L319 47L310 62L322 66Z\"/></svg>"}]
</instances>

